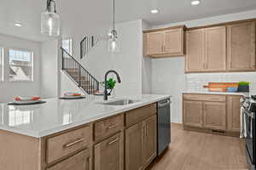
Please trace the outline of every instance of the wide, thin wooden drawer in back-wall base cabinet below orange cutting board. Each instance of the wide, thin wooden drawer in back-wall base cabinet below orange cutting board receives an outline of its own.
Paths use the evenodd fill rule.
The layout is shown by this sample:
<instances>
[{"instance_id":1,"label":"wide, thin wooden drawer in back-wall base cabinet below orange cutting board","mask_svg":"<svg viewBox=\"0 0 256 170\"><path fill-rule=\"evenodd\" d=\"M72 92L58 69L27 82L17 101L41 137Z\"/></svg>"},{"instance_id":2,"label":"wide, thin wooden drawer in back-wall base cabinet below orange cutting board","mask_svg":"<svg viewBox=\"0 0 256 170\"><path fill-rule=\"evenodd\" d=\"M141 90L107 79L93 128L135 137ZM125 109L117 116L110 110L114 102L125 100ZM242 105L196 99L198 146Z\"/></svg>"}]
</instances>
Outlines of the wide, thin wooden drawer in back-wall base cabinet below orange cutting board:
<instances>
[{"instance_id":1,"label":"wide, thin wooden drawer in back-wall base cabinet below orange cutting board","mask_svg":"<svg viewBox=\"0 0 256 170\"><path fill-rule=\"evenodd\" d=\"M216 95L216 94L183 94L183 99L225 102L226 96L225 95Z\"/></svg>"}]
</instances>

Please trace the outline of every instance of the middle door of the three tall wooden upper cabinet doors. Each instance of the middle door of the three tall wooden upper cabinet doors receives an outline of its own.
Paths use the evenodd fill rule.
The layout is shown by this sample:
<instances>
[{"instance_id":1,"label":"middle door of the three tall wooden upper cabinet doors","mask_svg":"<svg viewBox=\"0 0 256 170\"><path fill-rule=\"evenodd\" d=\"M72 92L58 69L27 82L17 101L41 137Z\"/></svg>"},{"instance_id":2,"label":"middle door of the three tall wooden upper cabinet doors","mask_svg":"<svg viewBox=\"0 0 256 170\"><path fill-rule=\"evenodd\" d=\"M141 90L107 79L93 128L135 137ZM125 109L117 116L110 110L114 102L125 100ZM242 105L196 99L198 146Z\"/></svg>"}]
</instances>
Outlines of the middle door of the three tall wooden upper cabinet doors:
<instances>
[{"instance_id":1,"label":"middle door of the three tall wooden upper cabinet doors","mask_svg":"<svg viewBox=\"0 0 256 170\"><path fill-rule=\"evenodd\" d=\"M206 71L226 70L226 26L206 29Z\"/></svg>"}]
</instances>

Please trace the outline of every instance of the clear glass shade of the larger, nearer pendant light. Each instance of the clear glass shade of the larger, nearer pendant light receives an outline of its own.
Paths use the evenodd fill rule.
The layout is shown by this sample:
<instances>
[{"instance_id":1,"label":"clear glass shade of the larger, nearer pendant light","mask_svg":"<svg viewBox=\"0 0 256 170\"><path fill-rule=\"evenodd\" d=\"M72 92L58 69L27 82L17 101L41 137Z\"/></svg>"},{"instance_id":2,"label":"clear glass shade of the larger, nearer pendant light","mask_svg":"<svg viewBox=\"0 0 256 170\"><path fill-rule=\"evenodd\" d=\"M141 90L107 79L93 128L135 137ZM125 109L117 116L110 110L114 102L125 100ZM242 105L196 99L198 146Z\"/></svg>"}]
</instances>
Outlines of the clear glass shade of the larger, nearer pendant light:
<instances>
[{"instance_id":1,"label":"clear glass shade of the larger, nearer pendant light","mask_svg":"<svg viewBox=\"0 0 256 170\"><path fill-rule=\"evenodd\" d=\"M49 37L60 36L61 19L55 12L46 10L41 14L41 33Z\"/></svg>"}]
</instances>

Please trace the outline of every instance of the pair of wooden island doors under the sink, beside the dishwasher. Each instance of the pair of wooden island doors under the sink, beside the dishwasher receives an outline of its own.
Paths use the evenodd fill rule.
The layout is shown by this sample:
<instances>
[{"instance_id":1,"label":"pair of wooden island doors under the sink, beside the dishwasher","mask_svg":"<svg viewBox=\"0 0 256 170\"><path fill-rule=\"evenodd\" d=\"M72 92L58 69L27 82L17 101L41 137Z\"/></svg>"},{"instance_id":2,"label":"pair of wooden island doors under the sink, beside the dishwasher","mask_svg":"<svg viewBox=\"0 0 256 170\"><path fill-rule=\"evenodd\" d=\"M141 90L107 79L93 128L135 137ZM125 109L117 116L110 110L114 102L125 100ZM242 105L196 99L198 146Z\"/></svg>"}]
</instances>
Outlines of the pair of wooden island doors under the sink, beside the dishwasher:
<instances>
[{"instance_id":1,"label":"pair of wooden island doors under the sink, beside the dishwasher","mask_svg":"<svg viewBox=\"0 0 256 170\"><path fill-rule=\"evenodd\" d=\"M143 170L156 156L156 116L125 130L125 170Z\"/></svg>"}]
</instances>

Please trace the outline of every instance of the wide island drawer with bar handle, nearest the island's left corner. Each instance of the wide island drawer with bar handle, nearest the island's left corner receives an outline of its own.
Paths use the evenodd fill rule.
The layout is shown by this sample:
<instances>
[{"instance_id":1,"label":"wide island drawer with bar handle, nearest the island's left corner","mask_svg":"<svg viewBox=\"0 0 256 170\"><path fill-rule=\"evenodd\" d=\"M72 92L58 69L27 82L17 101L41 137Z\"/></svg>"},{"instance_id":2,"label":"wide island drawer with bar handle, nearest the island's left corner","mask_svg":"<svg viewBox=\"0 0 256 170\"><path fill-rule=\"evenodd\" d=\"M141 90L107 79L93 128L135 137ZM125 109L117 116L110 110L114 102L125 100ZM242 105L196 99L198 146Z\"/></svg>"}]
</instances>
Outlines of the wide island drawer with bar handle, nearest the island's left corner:
<instances>
[{"instance_id":1,"label":"wide island drawer with bar handle, nearest the island's left corner","mask_svg":"<svg viewBox=\"0 0 256 170\"><path fill-rule=\"evenodd\" d=\"M63 133L47 140L47 163L67 156L74 151L89 147L92 142L92 126Z\"/></svg>"}]
</instances>

